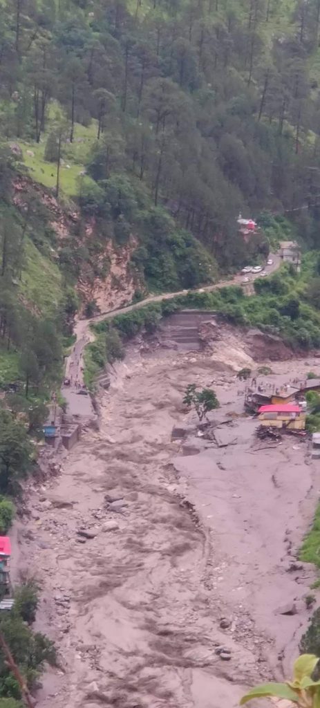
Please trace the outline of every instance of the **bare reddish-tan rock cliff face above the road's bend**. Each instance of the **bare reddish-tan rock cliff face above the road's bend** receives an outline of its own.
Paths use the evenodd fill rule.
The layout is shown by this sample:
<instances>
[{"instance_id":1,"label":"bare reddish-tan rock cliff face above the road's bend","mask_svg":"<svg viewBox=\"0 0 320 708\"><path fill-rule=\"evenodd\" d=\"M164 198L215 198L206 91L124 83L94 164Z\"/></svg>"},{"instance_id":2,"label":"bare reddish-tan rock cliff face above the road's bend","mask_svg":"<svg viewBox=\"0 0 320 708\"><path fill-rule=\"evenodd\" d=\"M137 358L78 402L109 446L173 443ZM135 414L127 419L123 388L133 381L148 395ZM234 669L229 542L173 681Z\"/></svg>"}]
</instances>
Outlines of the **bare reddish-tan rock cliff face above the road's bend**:
<instances>
[{"instance_id":1,"label":"bare reddish-tan rock cliff face above the road's bend","mask_svg":"<svg viewBox=\"0 0 320 708\"><path fill-rule=\"evenodd\" d=\"M92 300L101 312L131 302L135 290L141 287L137 273L130 264L137 246L134 236L130 236L123 246L115 244L112 239L99 234L94 219L84 222L74 205L63 207L45 188L25 176L16 179L13 190L13 203L23 215L28 213L30 201L38 200L45 207L50 227L55 232L56 244L50 249L52 259L58 265L65 249L71 257L78 254L76 290L82 311L86 303Z\"/></svg>"}]
</instances>

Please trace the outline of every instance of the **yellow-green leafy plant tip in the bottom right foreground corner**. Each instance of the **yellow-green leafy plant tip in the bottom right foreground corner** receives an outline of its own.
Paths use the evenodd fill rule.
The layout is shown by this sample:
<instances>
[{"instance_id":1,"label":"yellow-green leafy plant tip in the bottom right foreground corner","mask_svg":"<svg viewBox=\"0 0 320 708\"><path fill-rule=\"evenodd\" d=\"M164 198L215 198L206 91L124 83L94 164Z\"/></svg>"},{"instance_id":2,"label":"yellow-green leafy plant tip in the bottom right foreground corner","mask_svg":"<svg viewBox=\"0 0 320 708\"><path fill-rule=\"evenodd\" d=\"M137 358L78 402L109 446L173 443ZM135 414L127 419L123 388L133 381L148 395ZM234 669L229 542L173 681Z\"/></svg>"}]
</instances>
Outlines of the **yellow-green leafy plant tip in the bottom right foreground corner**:
<instances>
[{"instance_id":1,"label":"yellow-green leafy plant tip in the bottom right foreground corner","mask_svg":"<svg viewBox=\"0 0 320 708\"><path fill-rule=\"evenodd\" d=\"M297 703L301 708L320 707L319 657L314 654L302 654L293 665L293 678L285 683L262 683L251 688L241 698L244 705L253 698L275 696Z\"/></svg>"}]
</instances>

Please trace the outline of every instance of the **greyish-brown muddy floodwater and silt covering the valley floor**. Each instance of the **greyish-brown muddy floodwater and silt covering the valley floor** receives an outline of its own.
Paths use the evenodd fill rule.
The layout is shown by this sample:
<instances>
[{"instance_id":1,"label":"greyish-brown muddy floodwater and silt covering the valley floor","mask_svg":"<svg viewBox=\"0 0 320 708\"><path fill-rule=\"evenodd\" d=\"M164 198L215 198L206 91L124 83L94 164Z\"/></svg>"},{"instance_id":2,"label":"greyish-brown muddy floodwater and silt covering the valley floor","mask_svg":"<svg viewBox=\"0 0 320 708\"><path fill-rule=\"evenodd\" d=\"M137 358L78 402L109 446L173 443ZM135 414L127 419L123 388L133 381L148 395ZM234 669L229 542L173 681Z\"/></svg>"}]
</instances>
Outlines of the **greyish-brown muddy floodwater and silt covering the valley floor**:
<instances>
[{"instance_id":1,"label":"greyish-brown muddy floodwater and silt covering the valley floor","mask_svg":"<svg viewBox=\"0 0 320 708\"><path fill-rule=\"evenodd\" d=\"M295 552L320 463L301 438L256 440L236 360L132 347L101 398L100 430L30 490L21 565L35 566L38 627L60 657L40 707L230 708L290 666L310 614L314 570ZM271 366L278 384L319 362ZM221 447L192 431L182 399L193 382L217 392ZM174 426L190 434L171 440Z\"/></svg>"}]
</instances>

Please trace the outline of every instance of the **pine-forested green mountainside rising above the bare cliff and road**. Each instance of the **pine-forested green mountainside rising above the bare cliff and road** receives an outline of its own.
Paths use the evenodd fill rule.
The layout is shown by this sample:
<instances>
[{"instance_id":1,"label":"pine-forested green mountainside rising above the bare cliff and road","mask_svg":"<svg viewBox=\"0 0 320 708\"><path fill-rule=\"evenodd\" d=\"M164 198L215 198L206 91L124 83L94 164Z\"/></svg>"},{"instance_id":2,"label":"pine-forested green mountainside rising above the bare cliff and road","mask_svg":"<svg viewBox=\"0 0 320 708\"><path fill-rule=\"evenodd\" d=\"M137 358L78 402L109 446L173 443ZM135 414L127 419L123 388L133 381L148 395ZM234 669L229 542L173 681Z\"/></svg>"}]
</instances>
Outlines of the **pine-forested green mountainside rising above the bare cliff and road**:
<instances>
[{"instance_id":1,"label":"pine-forested green mountainside rising above the bare cliff and road","mask_svg":"<svg viewBox=\"0 0 320 708\"><path fill-rule=\"evenodd\" d=\"M153 287L238 265L239 211L298 209L312 246L319 17L319 0L12 0L2 135L95 218L97 251L138 234Z\"/></svg>"}]
</instances>

